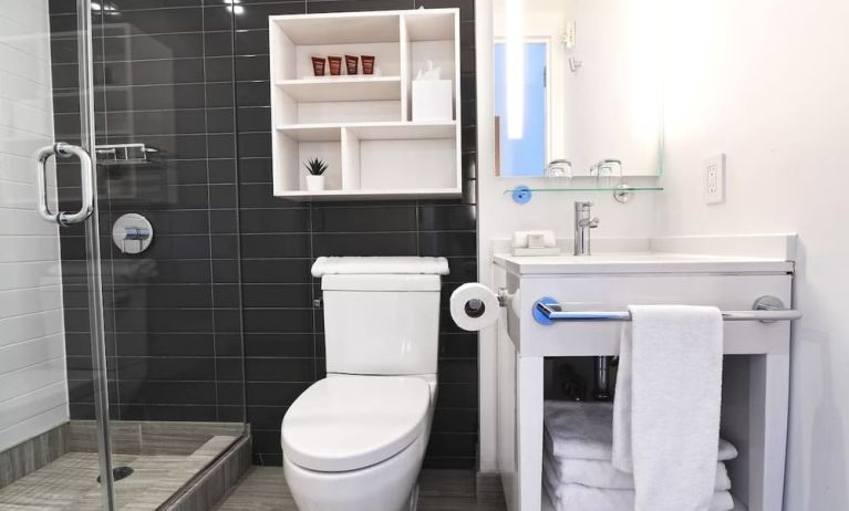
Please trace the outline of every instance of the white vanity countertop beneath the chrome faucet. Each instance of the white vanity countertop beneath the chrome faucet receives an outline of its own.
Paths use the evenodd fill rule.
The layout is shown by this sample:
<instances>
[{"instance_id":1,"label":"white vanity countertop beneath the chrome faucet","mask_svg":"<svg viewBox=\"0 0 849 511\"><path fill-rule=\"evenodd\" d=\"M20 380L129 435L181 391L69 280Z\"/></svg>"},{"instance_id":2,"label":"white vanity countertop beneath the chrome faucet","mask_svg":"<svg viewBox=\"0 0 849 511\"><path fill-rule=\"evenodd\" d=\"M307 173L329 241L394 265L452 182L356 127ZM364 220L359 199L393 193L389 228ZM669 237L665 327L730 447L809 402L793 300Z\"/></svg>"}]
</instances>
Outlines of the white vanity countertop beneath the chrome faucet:
<instances>
[{"instance_id":1,"label":"white vanity countertop beneath the chrome faucet","mask_svg":"<svg viewBox=\"0 0 849 511\"><path fill-rule=\"evenodd\" d=\"M794 263L778 258L702 255L666 252L608 252L516 257L496 253L496 265L520 275L598 273L790 273Z\"/></svg>"}]
</instances>

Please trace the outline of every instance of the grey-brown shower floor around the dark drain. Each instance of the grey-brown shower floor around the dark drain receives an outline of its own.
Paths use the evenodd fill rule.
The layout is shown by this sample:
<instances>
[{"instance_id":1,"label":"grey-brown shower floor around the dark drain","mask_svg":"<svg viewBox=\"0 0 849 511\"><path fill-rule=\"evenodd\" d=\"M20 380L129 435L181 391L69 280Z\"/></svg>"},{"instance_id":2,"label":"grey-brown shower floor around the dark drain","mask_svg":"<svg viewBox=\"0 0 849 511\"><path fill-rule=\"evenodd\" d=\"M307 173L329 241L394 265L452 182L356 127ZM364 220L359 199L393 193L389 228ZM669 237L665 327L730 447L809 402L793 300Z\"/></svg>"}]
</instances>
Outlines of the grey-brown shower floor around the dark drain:
<instances>
[{"instance_id":1,"label":"grey-brown shower floor around the dark drain","mask_svg":"<svg viewBox=\"0 0 849 511\"><path fill-rule=\"evenodd\" d=\"M153 511L227 449L236 437L216 436L190 455L114 455L115 467L135 471L115 482L116 508ZM101 510L97 453L69 452L0 489L3 511Z\"/></svg>"}]
</instances>

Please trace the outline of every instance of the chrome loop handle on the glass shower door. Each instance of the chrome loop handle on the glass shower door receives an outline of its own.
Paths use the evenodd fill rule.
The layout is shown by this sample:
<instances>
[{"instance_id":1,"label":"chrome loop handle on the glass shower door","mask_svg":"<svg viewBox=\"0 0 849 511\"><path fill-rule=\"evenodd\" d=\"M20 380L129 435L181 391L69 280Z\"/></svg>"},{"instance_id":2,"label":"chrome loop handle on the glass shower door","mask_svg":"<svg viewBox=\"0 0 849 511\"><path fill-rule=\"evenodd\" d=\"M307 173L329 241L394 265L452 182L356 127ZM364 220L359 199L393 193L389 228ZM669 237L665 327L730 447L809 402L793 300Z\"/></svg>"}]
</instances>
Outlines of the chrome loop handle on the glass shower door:
<instances>
[{"instance_id":1,"label":"chrome loop handle on the glass shower door","mask_svg":"<svg viewBox=\"0 0 849 511\"><path fill-rule=\"evenodd\" d=\"M59 158L70 158L76 156L80 159L80 186L82 188L83 205L79 211L53 212L48 205L48 160L51 156ZM51 222L59 223L62 227L80 223L87 219L94 211L94 184L92 182L92 158L89 153L80 146L58 142L56 144L43 147L38 154L38 181L39 181L39 201L38 211L41 218Z\"/></svg>"}]
</instances>

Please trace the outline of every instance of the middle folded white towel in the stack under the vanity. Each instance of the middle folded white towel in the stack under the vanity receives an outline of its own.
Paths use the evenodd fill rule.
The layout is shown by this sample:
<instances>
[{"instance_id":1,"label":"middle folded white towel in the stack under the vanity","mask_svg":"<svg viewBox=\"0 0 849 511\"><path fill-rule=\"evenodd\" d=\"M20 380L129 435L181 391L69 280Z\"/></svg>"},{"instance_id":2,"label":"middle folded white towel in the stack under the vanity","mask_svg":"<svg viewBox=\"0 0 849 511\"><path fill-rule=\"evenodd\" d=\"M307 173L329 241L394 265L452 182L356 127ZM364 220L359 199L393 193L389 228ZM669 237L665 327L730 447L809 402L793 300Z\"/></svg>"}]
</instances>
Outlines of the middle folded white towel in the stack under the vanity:
<instances>
[{"instance_id":1,"label":"middle folded white towel in the stack under the vanity","mask_svg":"<svg viewBox=\"0 0 849 511\"><path fill-rule=\"evenodd\" d=\"M583 484L610 490L633 490L634 476L613 467L610 461L597 459L552 458L542 456L542 470L552 484ZM731 490L731 479L725 463L716 463L715 491Z\"/></svg>"}]
</instances>

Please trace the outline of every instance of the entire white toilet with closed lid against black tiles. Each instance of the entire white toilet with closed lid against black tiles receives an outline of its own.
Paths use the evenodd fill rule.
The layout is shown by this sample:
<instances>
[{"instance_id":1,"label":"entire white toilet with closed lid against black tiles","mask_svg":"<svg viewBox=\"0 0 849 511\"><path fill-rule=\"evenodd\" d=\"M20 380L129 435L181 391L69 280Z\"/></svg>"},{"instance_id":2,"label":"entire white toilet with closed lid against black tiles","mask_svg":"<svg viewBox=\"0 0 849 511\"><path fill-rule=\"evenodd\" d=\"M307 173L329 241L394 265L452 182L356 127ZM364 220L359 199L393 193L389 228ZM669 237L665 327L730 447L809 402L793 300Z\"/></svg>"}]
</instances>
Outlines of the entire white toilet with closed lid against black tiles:
<instances>
[{"instance_id":1,"label":"entire white toilet with closed lid against black tiles","mask_svg":"<svg viewBox=\"0 0 849 511\"><path fill-rule=\"evenodd\" d=\"M319 258L328 377L283 417L300 511L414 510L436 401L444 258Z\"/></svg>"}]
</instances>

